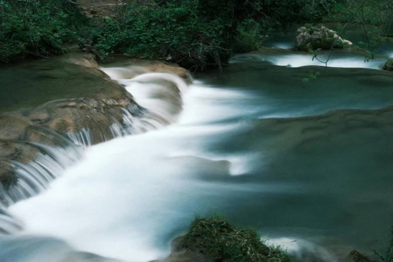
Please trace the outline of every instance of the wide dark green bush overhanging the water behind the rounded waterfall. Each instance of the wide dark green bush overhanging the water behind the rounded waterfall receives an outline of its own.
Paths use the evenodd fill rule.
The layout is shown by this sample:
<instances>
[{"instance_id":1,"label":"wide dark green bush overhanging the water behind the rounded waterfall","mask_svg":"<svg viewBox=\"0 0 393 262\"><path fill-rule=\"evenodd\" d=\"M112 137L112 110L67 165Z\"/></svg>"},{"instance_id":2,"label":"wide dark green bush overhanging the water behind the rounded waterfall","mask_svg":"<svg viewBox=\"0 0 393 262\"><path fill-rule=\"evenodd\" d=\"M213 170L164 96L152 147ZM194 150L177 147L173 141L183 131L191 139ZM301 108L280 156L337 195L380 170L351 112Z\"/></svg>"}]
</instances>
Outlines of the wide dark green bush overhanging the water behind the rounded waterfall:
<instances>
[{"instance_id":1,"label":"wide dark green bush overhanging the water behind the rounded waterfall","mask_svg":"<svg viewBox=\"0 0 393 262\"><path fill-rule=\"evenodd\" d=\"M312 0L168 0L149 8L128 4L120 21L106 19L94 30L101 58L114 52L167 59L203 69L225 65L234 52L255 50L264 36L290 23L321 20ZM318 6L315 10L319 10Z\"/></svg>"}]
</instances>

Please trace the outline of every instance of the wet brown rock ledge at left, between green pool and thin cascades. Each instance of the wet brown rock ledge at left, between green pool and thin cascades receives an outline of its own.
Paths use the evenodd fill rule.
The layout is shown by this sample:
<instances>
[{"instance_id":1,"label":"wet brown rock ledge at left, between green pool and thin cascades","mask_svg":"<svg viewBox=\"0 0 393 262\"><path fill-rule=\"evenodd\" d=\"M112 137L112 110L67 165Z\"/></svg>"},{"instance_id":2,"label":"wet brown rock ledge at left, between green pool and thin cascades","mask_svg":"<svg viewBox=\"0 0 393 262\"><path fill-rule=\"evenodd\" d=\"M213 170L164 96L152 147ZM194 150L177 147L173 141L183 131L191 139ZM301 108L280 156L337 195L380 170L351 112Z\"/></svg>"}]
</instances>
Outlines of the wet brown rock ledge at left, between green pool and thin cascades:
<instances>
[{"instance_id":1,"label":"wet brown rock ledge at left, between green pool and thin cascades","mask_svg":"<svg viewBox=\"0 0 393 262\"><path fill-rule=\"evenodd\" d=\"M15 182L10 171L12 161L26 164L35 159L40 150L32 147L30 142L58 146L51 135L40 131L42 128L50 128L63 136L89 128L93 144L113 138L110 126L123 121L126 106L135 105L134 100L119 100L122 100L123 106L117 102L108 105L90 98L59 100L0 115L0 160L4 160L0 164L0 182L6 182L3 183L6 187Z\"/></svg>"}]
</instances>

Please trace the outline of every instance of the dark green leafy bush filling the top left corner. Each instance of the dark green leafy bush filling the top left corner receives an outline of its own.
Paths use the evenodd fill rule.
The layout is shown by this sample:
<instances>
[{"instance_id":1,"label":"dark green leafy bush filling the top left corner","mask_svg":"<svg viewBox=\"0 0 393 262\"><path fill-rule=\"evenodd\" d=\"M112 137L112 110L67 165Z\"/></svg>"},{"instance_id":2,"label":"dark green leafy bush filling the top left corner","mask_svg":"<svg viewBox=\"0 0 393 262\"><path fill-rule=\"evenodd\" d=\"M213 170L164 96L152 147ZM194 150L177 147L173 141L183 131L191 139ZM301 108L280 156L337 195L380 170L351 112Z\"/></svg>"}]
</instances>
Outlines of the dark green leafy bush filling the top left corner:
<instances>
[{"instance_id":1,"label":"dark green leafy bush filling the top left corner","mask_svg":"<svg viewBox=\"0 0 393 262\"><path fill-rule=\"evenodd\" d=\"M87 19L67 1L0 1L0 62L65 51Z\"/></svg>"}]
</instances>

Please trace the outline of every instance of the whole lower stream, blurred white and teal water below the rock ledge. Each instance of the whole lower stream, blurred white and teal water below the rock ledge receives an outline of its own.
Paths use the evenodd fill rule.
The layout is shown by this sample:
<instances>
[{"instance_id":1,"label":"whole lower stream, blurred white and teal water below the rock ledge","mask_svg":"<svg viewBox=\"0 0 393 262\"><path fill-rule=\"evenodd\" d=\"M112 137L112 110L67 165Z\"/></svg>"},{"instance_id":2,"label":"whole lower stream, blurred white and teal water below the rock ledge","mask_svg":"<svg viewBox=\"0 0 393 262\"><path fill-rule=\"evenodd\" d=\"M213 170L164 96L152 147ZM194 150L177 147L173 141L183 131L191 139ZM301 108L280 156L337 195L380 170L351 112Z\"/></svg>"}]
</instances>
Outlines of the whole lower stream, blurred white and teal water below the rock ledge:
<instances>
[{"instance_id":1,"label":"whole lower stream, blurred white and teal water below the rock ledge","mask_svg":"<svg viewBox=\"0 0 393 262\"><path fill-rule=\"evenodd\" d=\"M379 70L382 59L364 63L356 51L334 52L326 71L311 58L262 49L190 85L105 64L170 124L73 148L79 161L8 208L23 229L0 235L0 261L163 259L194 212L209 211L257 228L294 261L383 250L393 224L393 124L377 109L393 104L393 77ZM304 82L310 71L325 76Z\"/></svg>"}]
</instances>

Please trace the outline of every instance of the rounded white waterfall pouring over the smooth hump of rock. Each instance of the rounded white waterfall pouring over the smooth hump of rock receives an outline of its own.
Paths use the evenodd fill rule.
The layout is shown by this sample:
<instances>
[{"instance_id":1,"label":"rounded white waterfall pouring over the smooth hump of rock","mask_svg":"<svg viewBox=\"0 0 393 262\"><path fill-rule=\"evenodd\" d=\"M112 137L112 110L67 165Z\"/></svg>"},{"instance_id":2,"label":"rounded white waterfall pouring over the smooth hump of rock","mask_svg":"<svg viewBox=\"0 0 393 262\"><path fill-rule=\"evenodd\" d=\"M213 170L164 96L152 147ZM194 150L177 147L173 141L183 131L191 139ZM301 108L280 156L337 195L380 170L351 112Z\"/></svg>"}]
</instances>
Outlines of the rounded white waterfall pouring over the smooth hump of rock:
<instances>
[{"instance_id":1,"label":"rounded white waterfall pouring over the smooth hump of rock","mask_svg":"<svg viewBox=\"0 0 393 262\"><path fill-rule=\"evenodd\" d=\"M188 84L170 73L146 73L127 79L124 68L102 68L130 92L137 105L124 109L122 123L110 127L113 137L136 135L175 123L183 109Z\"/></svg>"}]
</instances>

